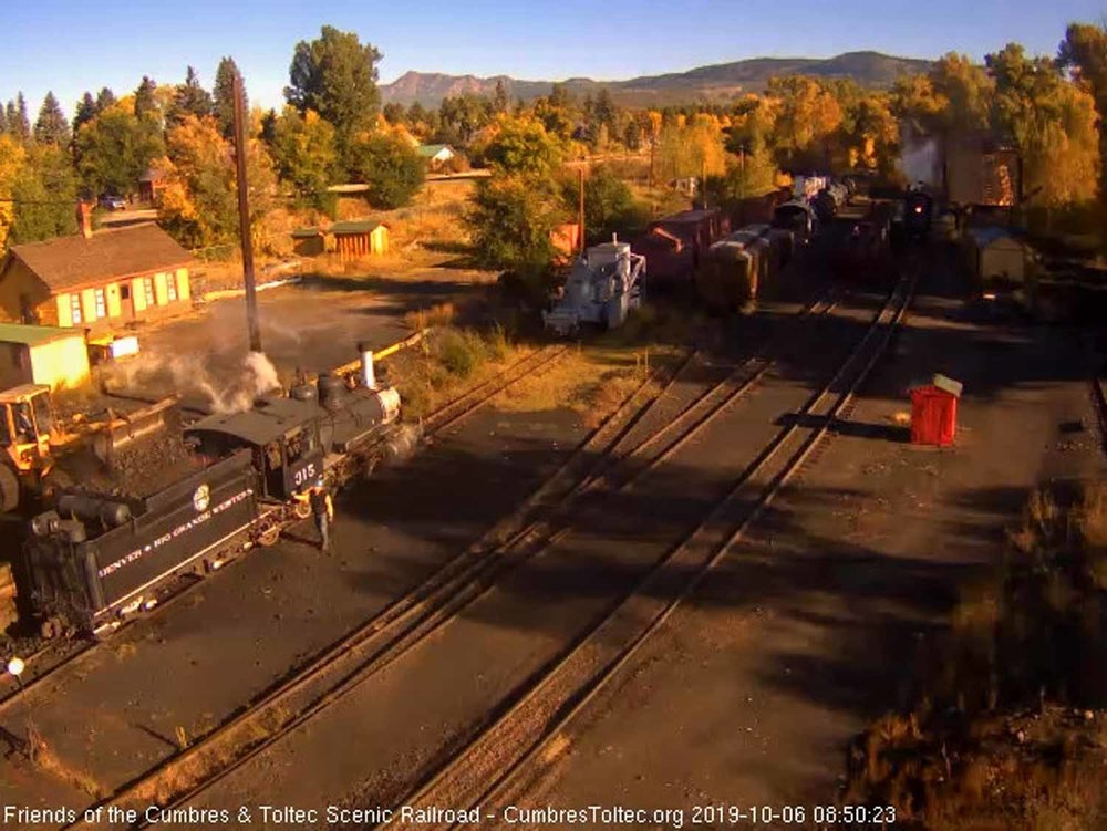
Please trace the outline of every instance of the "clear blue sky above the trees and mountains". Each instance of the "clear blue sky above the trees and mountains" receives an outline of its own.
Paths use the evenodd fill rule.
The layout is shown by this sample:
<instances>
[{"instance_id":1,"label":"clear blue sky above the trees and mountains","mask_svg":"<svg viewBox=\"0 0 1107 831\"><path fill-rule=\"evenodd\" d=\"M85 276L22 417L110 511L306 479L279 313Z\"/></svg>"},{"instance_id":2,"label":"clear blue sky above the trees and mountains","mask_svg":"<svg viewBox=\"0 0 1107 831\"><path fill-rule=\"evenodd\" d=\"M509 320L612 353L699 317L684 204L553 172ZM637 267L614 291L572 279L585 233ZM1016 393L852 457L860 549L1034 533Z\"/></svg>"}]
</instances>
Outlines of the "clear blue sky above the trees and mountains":
<instances>
[{"instance_id":1,"label":"clear blue sky above the trees and mountains","mask_svg":"<svg viewBox=\"0 0 1107 831\"><path fill-rule=\"evenodd\" d=\"M1068 21L1104 19L1107 0L3 0L0 98L22 90L33 117L53 90L72 114L85 89L126 92L143 74L176 83L187 64L209 85L229 54L251 101L279 105L296 42L324 23L374 44L382 81L407 70L618 80L859 49L981 59L1018 41L1053 54Z\"/></svg>"}]
</instances>

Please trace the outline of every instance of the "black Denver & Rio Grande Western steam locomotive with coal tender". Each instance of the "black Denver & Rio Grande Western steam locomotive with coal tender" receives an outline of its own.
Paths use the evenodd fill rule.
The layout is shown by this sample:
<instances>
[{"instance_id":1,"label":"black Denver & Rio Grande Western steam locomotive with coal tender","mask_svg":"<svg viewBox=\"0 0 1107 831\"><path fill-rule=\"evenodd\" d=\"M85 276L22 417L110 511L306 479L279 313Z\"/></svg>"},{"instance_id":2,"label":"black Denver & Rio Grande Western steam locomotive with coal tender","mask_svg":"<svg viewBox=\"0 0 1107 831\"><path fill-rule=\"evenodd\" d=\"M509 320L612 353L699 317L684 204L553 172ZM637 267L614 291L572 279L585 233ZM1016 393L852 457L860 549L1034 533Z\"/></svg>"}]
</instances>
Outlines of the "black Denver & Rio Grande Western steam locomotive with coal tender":
<instances>
[{"instance_id":1,"label":"black Denver & Rio Grande Western steam locomotive with coal tender","mask_svg":"<svg viewBox=\"0 0 1107 831\"><path fill-rule=\"evenodd\" d=\"M273 544L286 524L307 517L296 497L312 485L340 486L410 447L415 436L399 416L395 389L349 388L324 375L287 398L190 425L187 453L155 488L56 492L23 547L27 611L48 637L114 631L156 604L175 578Z\"/></svg>"}]
</instances>

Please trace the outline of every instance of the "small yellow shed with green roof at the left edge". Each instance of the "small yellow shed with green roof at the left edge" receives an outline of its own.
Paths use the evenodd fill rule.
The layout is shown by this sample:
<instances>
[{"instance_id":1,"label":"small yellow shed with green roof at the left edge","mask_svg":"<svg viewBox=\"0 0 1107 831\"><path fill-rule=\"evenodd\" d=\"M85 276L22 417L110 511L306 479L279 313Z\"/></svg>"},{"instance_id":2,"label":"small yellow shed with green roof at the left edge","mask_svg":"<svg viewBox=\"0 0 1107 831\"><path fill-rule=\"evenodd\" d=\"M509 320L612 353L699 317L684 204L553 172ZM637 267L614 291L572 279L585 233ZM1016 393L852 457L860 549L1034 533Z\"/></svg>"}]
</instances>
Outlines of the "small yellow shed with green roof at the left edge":
<instances>
[{"instance_id":1,"label":"small yellow shed with green roof at the left edge","mask_svg":"<svg viewBox=\"0 0 1107 831\"><path fill-rule=\"evenodd\" d=\"M0 323L0 389L23 384L58 389L87 380L89 349L81 330Z\"/></svg>"}]
</instances>

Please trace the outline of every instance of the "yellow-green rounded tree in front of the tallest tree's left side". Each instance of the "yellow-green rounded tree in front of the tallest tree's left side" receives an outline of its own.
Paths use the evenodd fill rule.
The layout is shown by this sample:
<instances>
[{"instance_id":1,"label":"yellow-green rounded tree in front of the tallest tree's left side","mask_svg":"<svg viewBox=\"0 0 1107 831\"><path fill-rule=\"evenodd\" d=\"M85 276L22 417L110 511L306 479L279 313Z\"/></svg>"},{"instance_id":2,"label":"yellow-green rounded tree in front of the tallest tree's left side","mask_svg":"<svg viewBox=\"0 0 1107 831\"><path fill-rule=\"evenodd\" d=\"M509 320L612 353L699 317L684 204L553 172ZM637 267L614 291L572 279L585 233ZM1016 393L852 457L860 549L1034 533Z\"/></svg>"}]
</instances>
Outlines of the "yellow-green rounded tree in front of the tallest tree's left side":
<instances>
[{"instance_id":1,"label":"yellow-green rounded tree in front of the tallest tree's left side","mask_svg":"<svg viewBox=\"0 0 1107 831\"><path fill-rule=\"evenodd\" d=\"M334 127L313 110L300 115L299 110L287 105L273 123L270 146L281 179L304 202L327 207L327 187L338 163Z\"/></svg>"}]
</instances>

